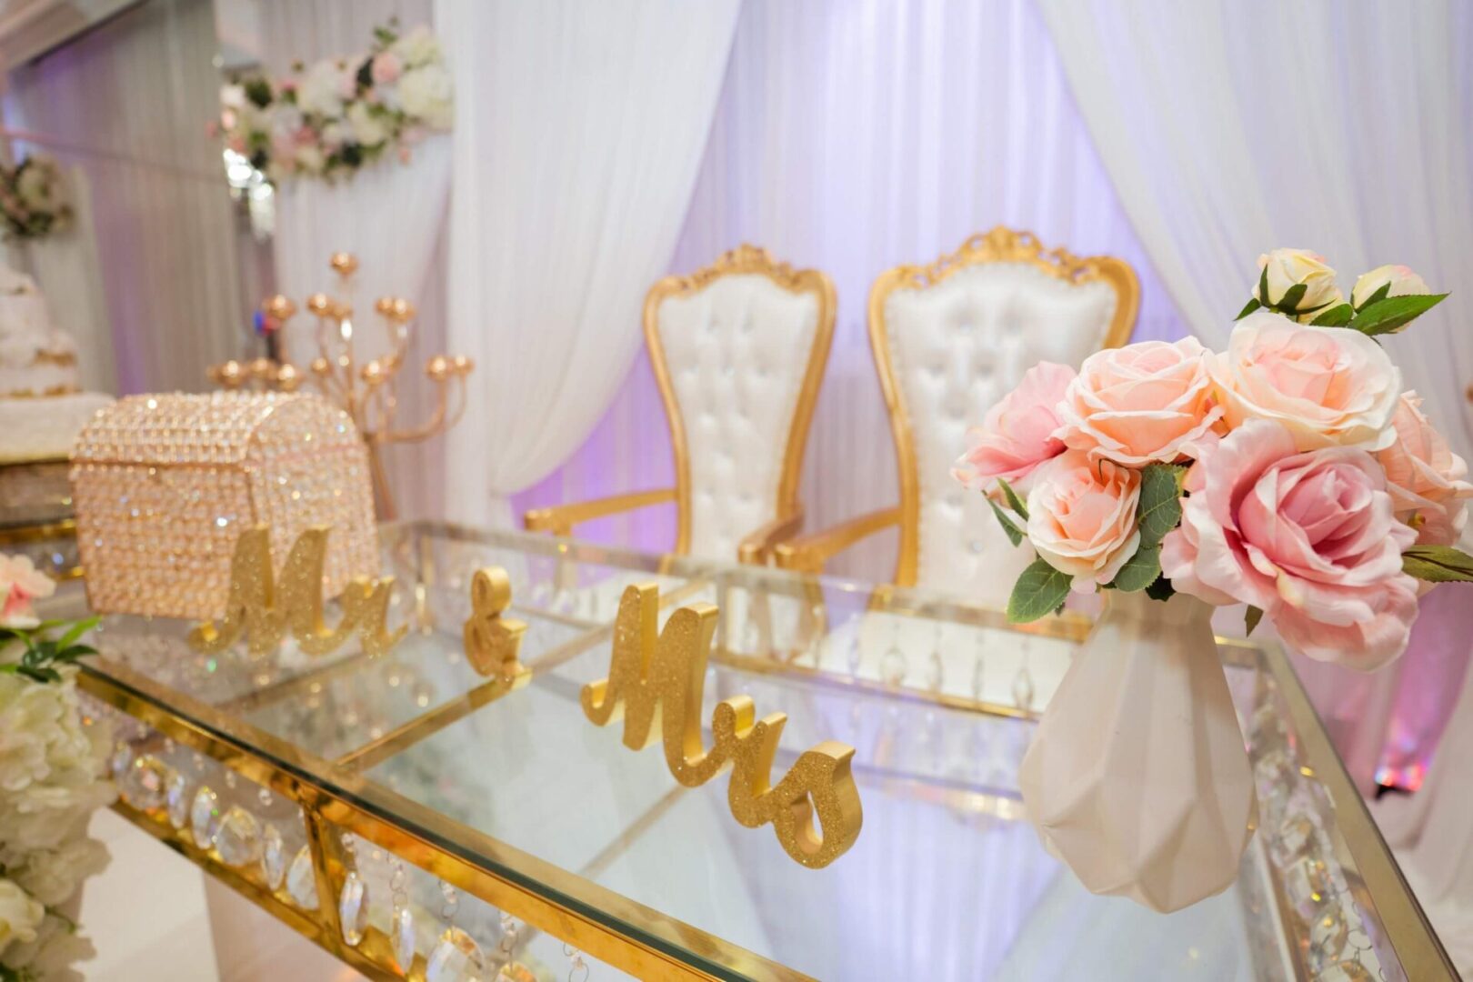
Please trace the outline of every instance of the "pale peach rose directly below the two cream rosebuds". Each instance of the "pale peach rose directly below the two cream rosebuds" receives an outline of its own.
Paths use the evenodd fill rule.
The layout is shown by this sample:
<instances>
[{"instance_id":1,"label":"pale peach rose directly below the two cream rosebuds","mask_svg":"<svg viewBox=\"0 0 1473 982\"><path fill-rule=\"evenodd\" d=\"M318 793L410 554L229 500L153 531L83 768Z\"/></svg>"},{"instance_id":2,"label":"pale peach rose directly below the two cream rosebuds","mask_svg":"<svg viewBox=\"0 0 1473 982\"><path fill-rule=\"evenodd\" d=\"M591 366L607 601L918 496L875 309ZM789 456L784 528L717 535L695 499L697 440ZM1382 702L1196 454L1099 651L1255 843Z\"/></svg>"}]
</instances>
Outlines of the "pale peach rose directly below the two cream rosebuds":
<instances>
[{"instance_id":1,"label":"pale peach rose directly below the two cream rosebuds","mask_svg":"<svg viewBox=\"0 0 1473 982\"><path fill-rule=\"evenodd\" d=\"M1396 439L1391 418L1401 371L1380 345L1348 327L1308 327L1255 311L1233 328L1227 350L1208 358L1208 371L1230 427L1274 420L1301 451L1380 451Z\"/></svg>"}]
</instances>

